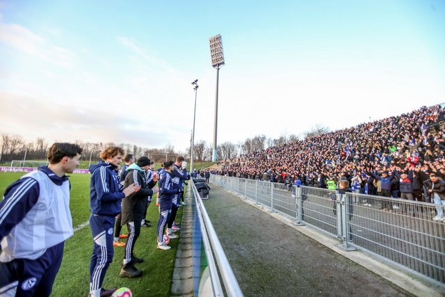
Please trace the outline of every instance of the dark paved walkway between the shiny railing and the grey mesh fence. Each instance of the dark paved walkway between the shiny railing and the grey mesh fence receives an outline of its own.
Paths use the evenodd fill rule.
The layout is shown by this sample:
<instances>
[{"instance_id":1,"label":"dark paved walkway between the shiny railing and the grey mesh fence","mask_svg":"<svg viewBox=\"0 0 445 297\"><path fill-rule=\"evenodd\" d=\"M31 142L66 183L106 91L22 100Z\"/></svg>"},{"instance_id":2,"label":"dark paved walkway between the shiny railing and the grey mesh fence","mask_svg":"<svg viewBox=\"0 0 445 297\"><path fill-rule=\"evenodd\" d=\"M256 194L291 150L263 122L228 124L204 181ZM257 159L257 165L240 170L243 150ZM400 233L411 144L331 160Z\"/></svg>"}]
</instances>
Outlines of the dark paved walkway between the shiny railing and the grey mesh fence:
<instances>
[{"instance_id":1,"label":"dark paved walkway between the shiny railing and the grey mesh fence","mask_svg":"<svg viewBox=\"0 0 445 297\"><path fill-rule=\"evenodd\" d=\"M211 187L204 204L245 296L413 296L412 284L403 286L406 291L298 232L277 214ZM338 243L324 235L318 240ZM363 252L353 253L365 258Z\"/></svg>"}]
</instances>

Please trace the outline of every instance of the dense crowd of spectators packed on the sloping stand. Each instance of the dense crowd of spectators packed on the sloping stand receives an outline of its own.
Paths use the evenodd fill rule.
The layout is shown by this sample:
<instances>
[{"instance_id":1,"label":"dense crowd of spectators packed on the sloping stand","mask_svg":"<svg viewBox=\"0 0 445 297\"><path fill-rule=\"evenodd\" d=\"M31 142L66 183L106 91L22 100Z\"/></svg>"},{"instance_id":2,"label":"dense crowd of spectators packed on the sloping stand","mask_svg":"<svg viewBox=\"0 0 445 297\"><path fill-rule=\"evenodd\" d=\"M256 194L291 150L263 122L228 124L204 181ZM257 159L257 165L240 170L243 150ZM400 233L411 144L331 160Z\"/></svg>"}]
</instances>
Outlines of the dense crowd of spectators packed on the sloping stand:
<instances>
[{"instance_id":1,"label":"dense crowd of spectators packed on the sloping stand","mask_svg":"<svg viewBox=\"0 0 445 297\"><path fill-rule=\"evenodd\" d=\"M445 177L444 120L441 106L423 106L252 152L214 173L318 188L347 179L352 191L393 198L403 196L405 181L412 187L410 200L428 200L423 182L431 173Z\"/></svg>"}]
</instances>

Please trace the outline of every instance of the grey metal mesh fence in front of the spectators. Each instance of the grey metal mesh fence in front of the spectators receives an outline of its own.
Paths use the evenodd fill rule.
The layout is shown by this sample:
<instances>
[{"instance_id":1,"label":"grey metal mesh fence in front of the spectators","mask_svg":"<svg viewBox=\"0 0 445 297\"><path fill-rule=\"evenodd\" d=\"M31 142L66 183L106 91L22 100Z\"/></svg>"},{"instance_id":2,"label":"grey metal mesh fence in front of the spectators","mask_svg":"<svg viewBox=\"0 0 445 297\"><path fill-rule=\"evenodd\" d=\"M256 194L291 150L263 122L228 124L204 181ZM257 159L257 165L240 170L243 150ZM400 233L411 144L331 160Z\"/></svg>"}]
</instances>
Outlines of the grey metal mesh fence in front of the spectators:
<instances>
[{"instance_id":1,"label":"grey metal mesh fence in front of the spectators","mask_svg":"<svg viewBox=\"0 0 445 297\"><path fill-rule=\"evenodd\" d=\"M436 204L211 175L210 182L445 287L445 223Z\"/></svg>"}]
</instances>

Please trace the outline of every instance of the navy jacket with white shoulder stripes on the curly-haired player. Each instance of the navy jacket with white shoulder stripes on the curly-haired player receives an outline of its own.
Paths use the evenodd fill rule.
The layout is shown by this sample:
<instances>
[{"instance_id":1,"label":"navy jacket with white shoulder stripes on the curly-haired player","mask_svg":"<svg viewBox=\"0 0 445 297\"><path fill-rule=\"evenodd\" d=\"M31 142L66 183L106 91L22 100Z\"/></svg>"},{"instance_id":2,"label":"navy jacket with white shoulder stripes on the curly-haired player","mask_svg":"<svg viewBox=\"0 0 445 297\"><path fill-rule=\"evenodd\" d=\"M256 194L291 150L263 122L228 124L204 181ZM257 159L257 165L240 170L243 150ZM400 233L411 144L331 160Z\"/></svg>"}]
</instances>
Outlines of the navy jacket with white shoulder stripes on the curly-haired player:
<instances>
[{"instance_id":1,"label":"navy jacket with white shoulder stripes on the curly-haired player","mask_svg":"<svg viewBox=\"0 0 445 297\"><path fill-rule=\"evenodd\" d=\"M106 161L90 166L90 211L92 214L116 216L125 194L120 191L117 166Z\"/></svg>"}]
</instances>

